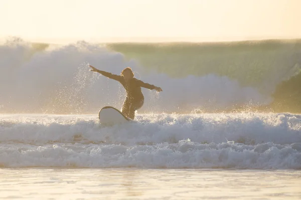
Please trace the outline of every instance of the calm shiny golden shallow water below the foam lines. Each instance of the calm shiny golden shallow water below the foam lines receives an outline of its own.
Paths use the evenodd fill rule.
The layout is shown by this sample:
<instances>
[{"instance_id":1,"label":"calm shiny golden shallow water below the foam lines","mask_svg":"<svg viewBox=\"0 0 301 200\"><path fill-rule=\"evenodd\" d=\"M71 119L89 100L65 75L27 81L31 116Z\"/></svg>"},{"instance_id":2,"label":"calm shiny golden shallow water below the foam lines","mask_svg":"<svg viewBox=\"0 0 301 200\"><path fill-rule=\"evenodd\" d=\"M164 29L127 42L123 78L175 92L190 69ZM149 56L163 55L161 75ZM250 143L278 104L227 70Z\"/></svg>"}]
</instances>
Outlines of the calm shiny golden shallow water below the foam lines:
<instances>
[{"instance_id":1,"label":"calm shiny golden shallow water below the foam lines","mask_svg":"<svg viewBox=\"0 0 301 200\"><path fill-rule=\"evenodd\" d=\"M300 199L300 171L1 169L1 199Z\"/></svg>"}]
</instances>

